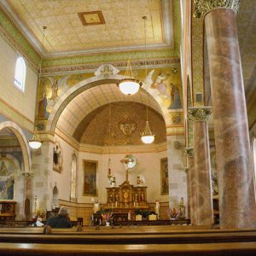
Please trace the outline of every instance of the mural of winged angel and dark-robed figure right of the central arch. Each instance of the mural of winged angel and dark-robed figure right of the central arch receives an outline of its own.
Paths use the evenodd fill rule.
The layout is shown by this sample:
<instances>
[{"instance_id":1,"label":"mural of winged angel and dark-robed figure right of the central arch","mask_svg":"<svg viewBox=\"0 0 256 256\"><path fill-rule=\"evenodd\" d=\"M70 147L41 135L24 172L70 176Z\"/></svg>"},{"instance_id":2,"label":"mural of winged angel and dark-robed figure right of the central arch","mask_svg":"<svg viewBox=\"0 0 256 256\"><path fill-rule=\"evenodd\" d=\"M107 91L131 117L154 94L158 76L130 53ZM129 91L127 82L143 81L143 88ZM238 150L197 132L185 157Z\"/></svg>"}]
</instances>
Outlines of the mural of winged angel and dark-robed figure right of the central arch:
<instances>
[{"instance_id":1,"label":"mural of winged angel and dark-robed figure right of the central arch","mask_svg":"<svg viewBox=\"0 0 256 256\"><path fill-rule=\"evenodd\" d=\"M144 89L148 90L152 95L156 94L160 100L164 103L166 108L180 109L182 108L180 91L177 85L172 83L172 74L160 73L154 78L155 70L151 70L148 73L147 78L144 80Z\"/></svg>"}]
</instances>

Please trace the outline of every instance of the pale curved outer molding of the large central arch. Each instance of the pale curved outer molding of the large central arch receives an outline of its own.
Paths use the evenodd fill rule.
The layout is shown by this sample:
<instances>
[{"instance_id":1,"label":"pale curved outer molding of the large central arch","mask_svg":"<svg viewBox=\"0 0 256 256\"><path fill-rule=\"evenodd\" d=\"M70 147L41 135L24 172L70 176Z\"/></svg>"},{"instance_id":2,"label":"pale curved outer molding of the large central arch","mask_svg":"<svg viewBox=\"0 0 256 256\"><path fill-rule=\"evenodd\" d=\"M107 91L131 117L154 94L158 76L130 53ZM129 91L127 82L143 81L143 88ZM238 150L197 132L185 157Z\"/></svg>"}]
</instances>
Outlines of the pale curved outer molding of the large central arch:
<instances>
[{"instance_id":1,"label":"pale curved outer molding of the large central arch","mask_svg":"<svg viewBox=\"0 0 256 256\"><path fill-rule=\"evenodd\" d=\"M110 75L108 77L92 77L90 79L84 79L83 81L79 82L79 84L74 85L72 88L67 90L61 98L58 100L58 102L55 103L54 108L52 109L52 112L49 114L49 119L46 125L46 131L54 132L55 127L57 125L58 119L61 116L61 113L63 110L67 107L67 104L71 102L76 96L78 96L80 93L82 93L84 90L89 90L90 88L96 87L97 85L101 84L117 84L120 79L123 79L122 75L115 74ZM148 94L148 96L154 98L147 90L145 92ZM156 101L161 110L161 114L163 118L166 121L166 107L163 106L161 102L156 100L154 98L154 101ZM166 122L167 125L167 122Z\"/></svg>"}]
</instances>

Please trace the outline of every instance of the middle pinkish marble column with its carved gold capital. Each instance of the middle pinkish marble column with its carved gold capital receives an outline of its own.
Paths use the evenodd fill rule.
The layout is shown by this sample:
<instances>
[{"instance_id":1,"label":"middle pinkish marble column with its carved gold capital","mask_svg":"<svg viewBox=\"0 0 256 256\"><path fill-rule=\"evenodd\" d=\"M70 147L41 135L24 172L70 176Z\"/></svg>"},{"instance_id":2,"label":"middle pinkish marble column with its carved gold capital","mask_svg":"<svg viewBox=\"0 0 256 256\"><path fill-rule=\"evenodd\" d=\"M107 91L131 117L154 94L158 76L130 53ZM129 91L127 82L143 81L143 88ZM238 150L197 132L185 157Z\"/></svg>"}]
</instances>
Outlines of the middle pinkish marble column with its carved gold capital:
<instances>
[{"instance_id":1,"label":"middle pinkish marble column with its carved gold capital","mask_svg":"<svg viewBox=\"0 0 256 256\"><path fill-rule=\"evenodd\" d=\"M195 162L194 224L212 225L212 179L207 119L211 108L189 108L189 120L193 122Z\"/></svg>"}]
</instances>

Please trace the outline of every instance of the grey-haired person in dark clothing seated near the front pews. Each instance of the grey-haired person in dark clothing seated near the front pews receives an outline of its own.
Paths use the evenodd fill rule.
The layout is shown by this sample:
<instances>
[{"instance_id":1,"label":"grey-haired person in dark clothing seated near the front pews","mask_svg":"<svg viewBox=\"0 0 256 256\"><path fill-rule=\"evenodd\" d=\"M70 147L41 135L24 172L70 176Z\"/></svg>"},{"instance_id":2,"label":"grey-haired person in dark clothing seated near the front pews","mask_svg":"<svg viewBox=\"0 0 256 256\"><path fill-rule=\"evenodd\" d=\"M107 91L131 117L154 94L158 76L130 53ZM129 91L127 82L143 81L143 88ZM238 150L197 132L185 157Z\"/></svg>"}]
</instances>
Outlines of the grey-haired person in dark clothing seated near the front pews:
<instances>
[{"instance_id":1,"label":"grey-haired person in dark clothing seated near the front pews","mask_svg":"<svg viewBox=\"0 0 256 256\"><path fill-rule=\"evenodd\" d=\"M61 207L58 215L50 217L46 220L46 225L53 229L68 229L72 227L69 221L69 211L67 207Z\"/></svg>"}]
</instances>

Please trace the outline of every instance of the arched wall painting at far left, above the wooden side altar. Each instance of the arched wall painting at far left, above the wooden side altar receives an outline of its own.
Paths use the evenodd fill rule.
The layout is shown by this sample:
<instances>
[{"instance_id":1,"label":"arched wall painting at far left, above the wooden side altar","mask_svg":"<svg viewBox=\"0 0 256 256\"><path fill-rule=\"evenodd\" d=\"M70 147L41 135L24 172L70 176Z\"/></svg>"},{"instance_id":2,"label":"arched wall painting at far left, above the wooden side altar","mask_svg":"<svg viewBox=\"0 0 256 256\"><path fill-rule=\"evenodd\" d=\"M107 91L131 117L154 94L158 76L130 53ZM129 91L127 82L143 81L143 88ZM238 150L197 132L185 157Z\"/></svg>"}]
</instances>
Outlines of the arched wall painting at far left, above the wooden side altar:
<instances>
[{"instance_id":1,"label":"arched wall painting at far left, above the wooden side altar","mask_svg":"<svg viewBox=\"0 0 256 256\"><path fill-rule=\"evenodd\" d=\"M15 164L8 159L0 159L0 200L14 200Z\"/></svg>"}]
</instances>

